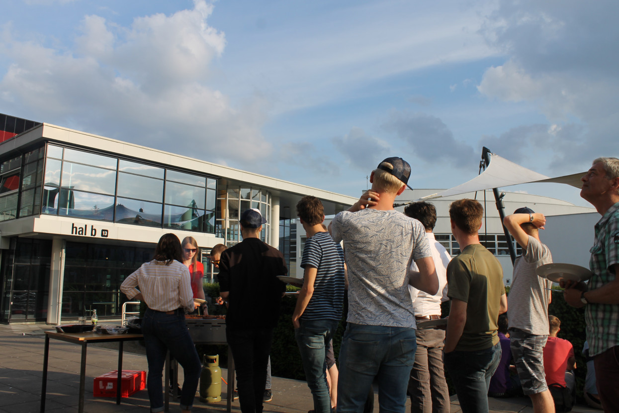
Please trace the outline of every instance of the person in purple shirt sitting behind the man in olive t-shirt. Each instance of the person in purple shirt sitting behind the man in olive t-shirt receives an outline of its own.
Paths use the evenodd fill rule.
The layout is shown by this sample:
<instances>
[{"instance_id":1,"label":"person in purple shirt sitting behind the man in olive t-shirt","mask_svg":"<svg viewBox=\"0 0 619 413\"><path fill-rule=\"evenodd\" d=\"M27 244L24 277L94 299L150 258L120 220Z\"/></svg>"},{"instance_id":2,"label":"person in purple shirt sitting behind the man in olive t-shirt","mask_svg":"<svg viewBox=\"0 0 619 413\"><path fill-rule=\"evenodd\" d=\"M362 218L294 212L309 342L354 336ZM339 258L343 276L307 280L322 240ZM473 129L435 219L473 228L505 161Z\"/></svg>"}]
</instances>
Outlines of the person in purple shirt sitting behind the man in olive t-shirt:
<instances>
[{"instance_id":1,"label":"person in purple shirt sitting behind the man in olive t-shirt","mask_svg":"<svg viewBox=\"0 0 619 413\"><path fill-rule=\"evenodd\" d=\"M511 371L516 369L513 365L513 357L509 347L508 318L507 313L499 315L498 336L501 343L501 361L496 368L495 374L490 379L488 396L493 398L511 398L522 394L520 380L511 376Z\"/></svg>"}]
</instances>

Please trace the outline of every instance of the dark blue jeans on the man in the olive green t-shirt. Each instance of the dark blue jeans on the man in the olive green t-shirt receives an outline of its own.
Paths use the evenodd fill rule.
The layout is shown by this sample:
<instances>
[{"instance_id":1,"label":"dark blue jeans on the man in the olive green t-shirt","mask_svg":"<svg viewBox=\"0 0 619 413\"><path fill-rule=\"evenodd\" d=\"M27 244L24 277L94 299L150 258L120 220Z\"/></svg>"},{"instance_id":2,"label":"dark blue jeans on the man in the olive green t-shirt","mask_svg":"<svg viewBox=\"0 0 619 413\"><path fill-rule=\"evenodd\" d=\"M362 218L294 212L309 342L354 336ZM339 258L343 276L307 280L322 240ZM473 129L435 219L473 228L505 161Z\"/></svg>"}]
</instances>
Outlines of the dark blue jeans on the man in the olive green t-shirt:
<instances>
[{"instance_id":1,"label":"dark blue jeans on the man in the olive green t-shirt","mask_svg":"<svg viewBox=\"0 0 619 413\"><path fill-rule=\"evenodd\" d=\"M488 412L488 388L501 361L501 344L478 351L454 350L444 354L444 360L462 412Z\"/></svg>"}]
</instances>

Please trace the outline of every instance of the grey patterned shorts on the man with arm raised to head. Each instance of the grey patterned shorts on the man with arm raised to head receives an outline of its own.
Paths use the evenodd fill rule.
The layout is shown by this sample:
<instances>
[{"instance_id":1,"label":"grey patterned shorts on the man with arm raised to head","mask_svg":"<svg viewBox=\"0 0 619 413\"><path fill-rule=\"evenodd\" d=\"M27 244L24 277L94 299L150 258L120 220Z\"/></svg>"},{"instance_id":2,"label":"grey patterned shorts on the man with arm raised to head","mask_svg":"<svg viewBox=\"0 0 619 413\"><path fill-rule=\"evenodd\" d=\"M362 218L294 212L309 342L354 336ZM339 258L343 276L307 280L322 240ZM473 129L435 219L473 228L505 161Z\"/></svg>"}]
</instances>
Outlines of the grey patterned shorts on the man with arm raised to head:
<instances>
[{"instance_id":1,"label":"grey patterned shorts on the man with arm raised to head","mask_svg":"<svg viewBox=\"0 0 619 413\"><path fill-rule=\"evenodd\" d=\"M546 375L543 371L543 347L548 336L536 336L521 329L509 329L509 347L524 394L546 391Z\"/></svg>"}]
</instances>

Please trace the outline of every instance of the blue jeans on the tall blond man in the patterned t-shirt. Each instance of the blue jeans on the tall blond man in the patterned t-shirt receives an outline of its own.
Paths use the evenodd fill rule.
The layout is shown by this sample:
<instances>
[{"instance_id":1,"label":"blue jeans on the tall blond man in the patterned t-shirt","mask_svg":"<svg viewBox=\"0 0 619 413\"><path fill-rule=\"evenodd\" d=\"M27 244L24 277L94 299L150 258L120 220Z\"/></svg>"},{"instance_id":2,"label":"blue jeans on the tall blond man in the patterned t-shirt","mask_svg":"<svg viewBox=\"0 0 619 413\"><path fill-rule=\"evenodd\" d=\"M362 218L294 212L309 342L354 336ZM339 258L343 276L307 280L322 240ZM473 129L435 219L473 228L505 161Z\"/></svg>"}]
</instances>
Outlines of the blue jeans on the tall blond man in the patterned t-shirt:
<instances>
[{"instance_id":1,"label":"blue jeans on the tall blond man in the patterned t-shirt","mask_svg":"<svg viewBox=\"0 0 619 413\"><path fill-rule=\"evenodd\" d=\"M381 413L404 413L416 348L414 328L348 323L340 350L338 413L362 412L374 378Z\"/></svg>"}]
</instances>

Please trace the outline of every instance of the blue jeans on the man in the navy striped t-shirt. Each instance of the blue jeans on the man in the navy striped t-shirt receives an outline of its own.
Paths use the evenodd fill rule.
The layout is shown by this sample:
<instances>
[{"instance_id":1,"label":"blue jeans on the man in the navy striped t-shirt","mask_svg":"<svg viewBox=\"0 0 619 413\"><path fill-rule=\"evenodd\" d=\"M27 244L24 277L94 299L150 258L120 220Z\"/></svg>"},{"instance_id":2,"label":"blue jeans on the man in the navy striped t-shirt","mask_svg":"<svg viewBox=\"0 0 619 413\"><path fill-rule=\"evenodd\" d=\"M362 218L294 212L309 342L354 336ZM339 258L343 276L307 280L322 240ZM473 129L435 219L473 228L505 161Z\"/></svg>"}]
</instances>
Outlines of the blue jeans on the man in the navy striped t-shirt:
<instances>
[{"instance_id":1,"label":"blue jeans on the man in the navy striped t-shirt","mask_svg":"<svg viewBox=\"0 0 619 413\"><path fill-rule=\"evenodd\" d=\"M300 320L300 327L295 329L295 339L297 339L301 353L305 378L314 398L316 413L331 412L325 360L331 337L337 330L338 321Z\"/></svg>"}]
</instances>

